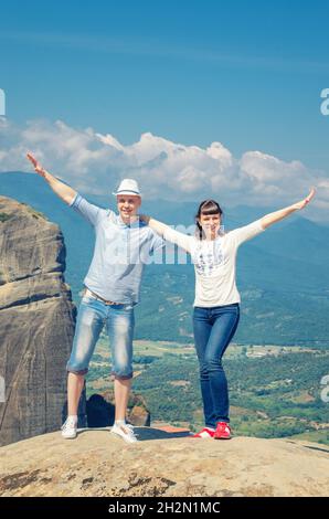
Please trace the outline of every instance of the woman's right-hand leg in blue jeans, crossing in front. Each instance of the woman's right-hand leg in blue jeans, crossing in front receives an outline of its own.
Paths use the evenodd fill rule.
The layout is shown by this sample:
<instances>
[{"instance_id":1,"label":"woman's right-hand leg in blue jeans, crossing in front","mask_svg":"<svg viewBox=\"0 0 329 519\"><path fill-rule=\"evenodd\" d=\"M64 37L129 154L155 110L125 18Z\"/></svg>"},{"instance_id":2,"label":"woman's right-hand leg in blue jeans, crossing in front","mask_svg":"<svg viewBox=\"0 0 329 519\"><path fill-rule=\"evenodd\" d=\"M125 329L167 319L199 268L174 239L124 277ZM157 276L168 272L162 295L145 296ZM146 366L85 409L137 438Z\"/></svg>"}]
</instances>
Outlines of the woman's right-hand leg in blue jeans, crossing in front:
<instances>
[{"instance_id":1,"label":"woman's right-hand leg in blue jeans, crossing in front","mask_svg":"<svg viewBox=\"0 0 329 519\"><path fill-rule=\"evenodd\" d=\"M238 306L211 309L212 330L208 340L204 363L209 374L214 422L230 422L229 388L222 364L223 354L232 340L240 320Z\"/></svg>"}]
</instances>

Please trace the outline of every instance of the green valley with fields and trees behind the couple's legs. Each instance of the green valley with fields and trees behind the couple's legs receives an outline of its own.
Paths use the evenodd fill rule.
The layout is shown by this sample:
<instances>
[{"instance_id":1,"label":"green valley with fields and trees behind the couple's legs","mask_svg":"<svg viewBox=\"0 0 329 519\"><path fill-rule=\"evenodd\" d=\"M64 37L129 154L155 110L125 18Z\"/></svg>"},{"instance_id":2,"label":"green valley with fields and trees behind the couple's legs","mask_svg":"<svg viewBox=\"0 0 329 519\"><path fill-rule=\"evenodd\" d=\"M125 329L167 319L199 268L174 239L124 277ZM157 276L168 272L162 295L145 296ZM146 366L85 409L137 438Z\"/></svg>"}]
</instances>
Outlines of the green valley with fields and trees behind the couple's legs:
<instances>
[{"instance_id":1,"label":"green valley with fields and trees behind the couple's legs","mask_svg":"<svg viewBox=\"0 0 329 519\"><path fill-rule=\"evenodd\" d=\"M329 404L320 398L321 378L329 373L329 352L231 345L226 353L231 422L236 435L329 445ZM134 343L134 391L144 396L153 422L191 430L203 425L192 345L139 340ZM109 372L109 347L102 337L88 373L87 395L113 384Z\"/></svg>"}]
</instances>

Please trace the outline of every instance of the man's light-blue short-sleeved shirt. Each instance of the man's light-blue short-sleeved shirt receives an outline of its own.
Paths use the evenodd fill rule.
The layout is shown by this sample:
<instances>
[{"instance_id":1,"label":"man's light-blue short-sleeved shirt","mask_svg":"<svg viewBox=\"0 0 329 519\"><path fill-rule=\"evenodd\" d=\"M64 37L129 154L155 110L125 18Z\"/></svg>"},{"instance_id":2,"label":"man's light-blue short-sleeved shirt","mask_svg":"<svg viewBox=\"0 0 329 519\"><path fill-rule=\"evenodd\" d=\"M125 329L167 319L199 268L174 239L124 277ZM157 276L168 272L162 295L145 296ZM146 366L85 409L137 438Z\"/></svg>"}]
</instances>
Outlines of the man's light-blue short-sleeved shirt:
<instances>
[{"instance_id":1,"label":"man's light-blue short-sleeved shirt","mask_svg":"<svg viewBox=\"0 0 329 519\"><path fill-rule=\"evenodd\" d=\"M70 204L95 230L94 256L84 284L104 299L139 301L144 266L164 241L145 222L130 225L109 209L102 209L76 194Z\"/></svg>"}]
</instances>

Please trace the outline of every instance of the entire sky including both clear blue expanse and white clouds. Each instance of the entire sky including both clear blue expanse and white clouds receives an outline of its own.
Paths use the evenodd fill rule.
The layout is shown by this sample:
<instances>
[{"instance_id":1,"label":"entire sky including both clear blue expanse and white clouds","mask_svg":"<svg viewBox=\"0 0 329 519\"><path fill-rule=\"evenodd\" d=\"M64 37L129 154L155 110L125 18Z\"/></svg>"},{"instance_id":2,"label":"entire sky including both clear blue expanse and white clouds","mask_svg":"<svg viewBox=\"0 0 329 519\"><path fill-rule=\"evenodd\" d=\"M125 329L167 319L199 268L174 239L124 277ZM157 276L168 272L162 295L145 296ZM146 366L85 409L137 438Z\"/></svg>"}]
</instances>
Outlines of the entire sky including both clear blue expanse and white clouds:
<instances>
[{"instance_id":1,"label":"entire sky including both clear blue expanse and white clouds","mask_svg":"<svg viewBox=\"0 0 329 519\"><path fill-rule=\"evenodd\" d=\"M0 172L29 170L31 149L85 193L129 176L149 197L280 206L315 186L307 215L329 220L329 2L12 0L0 14Z\"/></svg>"}]
</instances>

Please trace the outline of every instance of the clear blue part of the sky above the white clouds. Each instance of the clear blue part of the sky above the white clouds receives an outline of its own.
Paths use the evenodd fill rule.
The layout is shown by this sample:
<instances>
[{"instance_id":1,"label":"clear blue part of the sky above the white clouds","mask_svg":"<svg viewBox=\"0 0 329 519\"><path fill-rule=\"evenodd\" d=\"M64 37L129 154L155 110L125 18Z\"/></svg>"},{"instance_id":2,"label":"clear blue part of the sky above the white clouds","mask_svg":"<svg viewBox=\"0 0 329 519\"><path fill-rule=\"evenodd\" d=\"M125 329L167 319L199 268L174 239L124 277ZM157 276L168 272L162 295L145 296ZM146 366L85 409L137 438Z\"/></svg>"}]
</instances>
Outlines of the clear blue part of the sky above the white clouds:
<instances>
[{"instance_id":1,"label":"clear blue part of the sky above the white clouds","mask_svg":"<svg viewBox=\"0 0 329 519\"><path fill-rule=\"evenodd\" d=\"M323 1L2 2L7 115L328 171L328 19Z\"/></svg>"}]
</instances>

